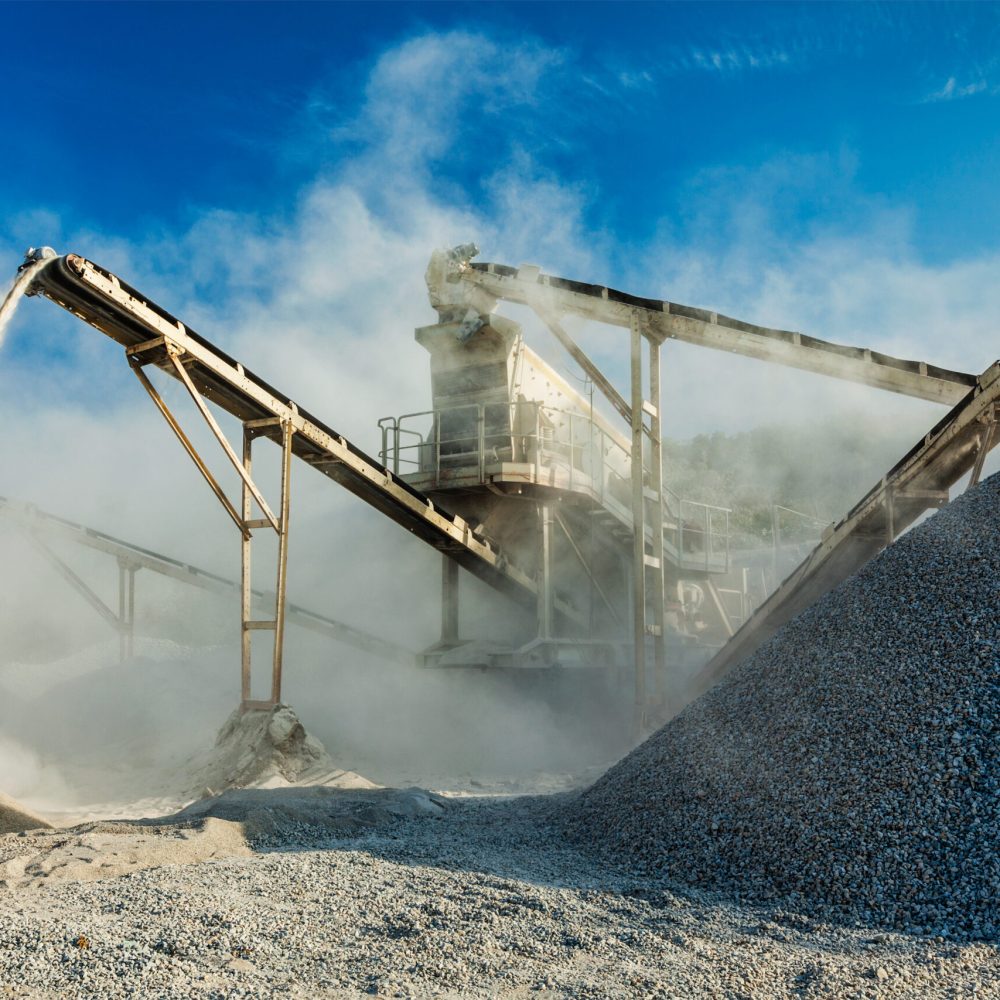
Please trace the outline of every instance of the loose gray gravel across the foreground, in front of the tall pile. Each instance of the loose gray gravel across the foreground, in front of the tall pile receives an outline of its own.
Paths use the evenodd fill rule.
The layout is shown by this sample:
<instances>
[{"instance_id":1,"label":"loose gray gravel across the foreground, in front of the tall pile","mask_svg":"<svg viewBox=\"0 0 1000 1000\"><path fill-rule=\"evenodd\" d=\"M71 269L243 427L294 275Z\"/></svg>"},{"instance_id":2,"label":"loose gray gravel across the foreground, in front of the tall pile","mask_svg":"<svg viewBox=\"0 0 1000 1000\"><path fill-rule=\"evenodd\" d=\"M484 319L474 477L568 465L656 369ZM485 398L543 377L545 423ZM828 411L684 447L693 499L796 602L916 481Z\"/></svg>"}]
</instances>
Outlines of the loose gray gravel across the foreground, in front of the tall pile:
<instances>
[{"instance_id":1,"label":"loose gray gravel across the foreground, in front of the tall pile","mask_svg":"<svg viewBox=\"0 0 1000 1000\"><path fill-rule=\"evenodd\" d=\"M595 865L559 805L300 820L251 857L0 893L0 996L1000 996L994 947L677 892Z\"/></svg>"}]
</instances>

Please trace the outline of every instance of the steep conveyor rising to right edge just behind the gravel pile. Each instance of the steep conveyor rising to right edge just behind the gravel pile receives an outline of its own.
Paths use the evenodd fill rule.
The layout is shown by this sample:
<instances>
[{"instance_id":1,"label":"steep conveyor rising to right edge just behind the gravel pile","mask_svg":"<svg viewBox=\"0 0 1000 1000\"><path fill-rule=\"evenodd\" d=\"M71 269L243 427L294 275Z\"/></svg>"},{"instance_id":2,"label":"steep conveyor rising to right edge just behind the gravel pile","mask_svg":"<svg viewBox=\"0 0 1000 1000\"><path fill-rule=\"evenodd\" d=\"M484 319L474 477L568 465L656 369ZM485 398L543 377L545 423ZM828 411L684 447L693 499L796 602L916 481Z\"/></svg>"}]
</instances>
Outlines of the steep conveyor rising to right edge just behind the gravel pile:
<instances>
[{"instance_id":1,"label":"steep conveyor rising to right edge just behind the gravel pile","mask_svg":"<svg viewBox=\"0 0 1000 1000\"><path fill-rule=\"evenodd\" d=\"M799 612L856 573L925 511L948 502L964 475L978 475L1000 444L1000 361L870 490L746 621L699 674L689 698L754 653Z\"/></svg>"}]
</instances>

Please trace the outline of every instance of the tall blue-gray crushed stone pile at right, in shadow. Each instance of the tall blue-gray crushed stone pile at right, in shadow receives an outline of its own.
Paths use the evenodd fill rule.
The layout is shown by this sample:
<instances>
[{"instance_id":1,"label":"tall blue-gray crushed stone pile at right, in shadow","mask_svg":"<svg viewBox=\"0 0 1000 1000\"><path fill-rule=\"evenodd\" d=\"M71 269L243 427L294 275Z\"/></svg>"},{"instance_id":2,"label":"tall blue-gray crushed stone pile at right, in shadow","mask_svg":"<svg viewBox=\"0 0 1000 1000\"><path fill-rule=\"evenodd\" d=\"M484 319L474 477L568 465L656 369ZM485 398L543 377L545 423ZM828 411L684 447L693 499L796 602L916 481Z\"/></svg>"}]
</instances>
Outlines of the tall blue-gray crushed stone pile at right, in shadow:
<instances>
[{"instance_id":1,"label":"tall blue-gray crushed stone pile at right, in shadow","mask_svg":"<svg viewBox=\"0 0 1000 1000\"><path fill-rule=\"evenodd\" d=\"M568 806L640 870L1000 938L1000 474L789 622Z\"/></svg>"}]
</instances>

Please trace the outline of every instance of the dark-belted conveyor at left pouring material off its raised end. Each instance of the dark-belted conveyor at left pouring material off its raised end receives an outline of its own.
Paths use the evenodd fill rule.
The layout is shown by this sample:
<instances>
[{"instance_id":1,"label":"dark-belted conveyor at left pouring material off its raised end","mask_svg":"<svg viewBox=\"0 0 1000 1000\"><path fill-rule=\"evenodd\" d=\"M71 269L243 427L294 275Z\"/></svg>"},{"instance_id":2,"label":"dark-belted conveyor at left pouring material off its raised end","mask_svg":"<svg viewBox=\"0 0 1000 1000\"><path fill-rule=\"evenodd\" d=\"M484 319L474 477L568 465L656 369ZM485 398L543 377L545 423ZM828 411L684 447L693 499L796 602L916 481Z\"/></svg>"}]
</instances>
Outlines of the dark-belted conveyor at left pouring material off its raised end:
<instances>
[{"instance_id":1,"label":"dark-belted conveyor at left pouring material off its raised end","mask_svg":"<svg viewBox=\"0 0 1000 1000\"><path fill-rule=\"evenodd\" d=\"M533 606L533 576L512 565L499 548L463 518L438 507L345 437L300 409L291 399L143 298L117 276L76 254L48 261L28 289L42 294L143 360L177 377L168 346L183 352L184 368L206 399L238 420L277 417L294 431L292 451L390 520L522 604ZM561 600L556 608L575 612Z\"/></svg>"}]
</instances>

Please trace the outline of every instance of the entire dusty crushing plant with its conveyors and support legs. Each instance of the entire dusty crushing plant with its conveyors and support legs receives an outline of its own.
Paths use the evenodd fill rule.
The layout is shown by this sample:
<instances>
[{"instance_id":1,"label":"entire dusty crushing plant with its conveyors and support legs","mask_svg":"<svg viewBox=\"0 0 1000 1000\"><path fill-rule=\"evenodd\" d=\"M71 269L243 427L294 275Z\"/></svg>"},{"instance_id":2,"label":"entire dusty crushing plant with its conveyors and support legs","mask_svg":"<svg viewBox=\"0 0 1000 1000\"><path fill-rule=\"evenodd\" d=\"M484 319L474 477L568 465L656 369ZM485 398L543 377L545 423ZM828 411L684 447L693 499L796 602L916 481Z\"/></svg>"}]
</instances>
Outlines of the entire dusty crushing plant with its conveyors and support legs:
<instances>
[{"instance_id":1,"label":"entire dusty crushing plant with its conveyors and support legs","mask_svg":"<svg viewBox=\"0 0 1000 1000\"><path fill-rule=\"evenodd\" d=\"M311 616L313 627L373 651L380 641L286 601L293 458L442 553L441 638L419 657L424 664L626 674L628 700L642 728L679 710L925 511L947 503L962 477L978 480L997 443L1000 363L978 377L948 371L552 277L535 267L474 263L476 254L469 245L431 259L427 282L439 322L421 327L416 337L430 353L433 408L381 420L378 459L91 261L46 249L29 252L21 266L16 291L46 296L125 348L139 382L234 522L242 548L244 708L280 700L286 621ZM502 302L537 313L605 397L613 419L524 343L520 327L497 314ZM570 314L628 331L627 392L567 332L563 319ZM729 512L680 498L663 481L660 351L669 340L950 409L754 608L745 585L732 585ZM150 377L155 370L187 389L239 474L238 500L226 495L168 408ZM213 407L241 422L242 441L228 440ZM257 438L282 449L281 494L273 509L253 476ZM36 526L42 520L36 515ZM61 530L85 531L65 522ZM253 537L260 531L278 538L275 586L266 599L253 590L250 576ZM108 536L102 545L143 554ZM129 565L128 552L118 556ZM161 570L171 562L144 557L159 560ZM463 638L459 568L527 607L530 630L503 644ZM123 607L120 629L130 614L134 619ZM251 693L256 630L273 637L265 699Z\"/></svg>"}]
</instances>

